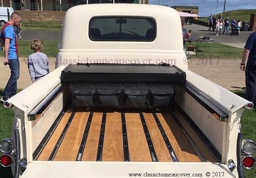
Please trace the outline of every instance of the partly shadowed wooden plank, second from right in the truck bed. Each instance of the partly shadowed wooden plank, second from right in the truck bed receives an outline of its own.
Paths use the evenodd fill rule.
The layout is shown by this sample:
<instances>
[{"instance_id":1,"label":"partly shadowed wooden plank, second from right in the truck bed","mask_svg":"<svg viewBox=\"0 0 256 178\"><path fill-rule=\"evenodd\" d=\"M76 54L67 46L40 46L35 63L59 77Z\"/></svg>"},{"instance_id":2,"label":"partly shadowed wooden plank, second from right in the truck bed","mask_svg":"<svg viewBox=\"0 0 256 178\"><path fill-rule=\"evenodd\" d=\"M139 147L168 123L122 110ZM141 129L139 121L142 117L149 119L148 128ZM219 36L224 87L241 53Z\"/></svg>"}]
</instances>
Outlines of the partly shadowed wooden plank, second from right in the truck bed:
<instances>
[{"instance_id":1,"label":"partly shadowed wooden plank, second from right in the truck bed","mask_svg":"<svg viewBox=\"0 0 256 178\"><path fill-rule=\"evenodd\" d=\"M193 147L168 111L156 113L180 162L201 162Z\"/></svg>"}]
</instances>

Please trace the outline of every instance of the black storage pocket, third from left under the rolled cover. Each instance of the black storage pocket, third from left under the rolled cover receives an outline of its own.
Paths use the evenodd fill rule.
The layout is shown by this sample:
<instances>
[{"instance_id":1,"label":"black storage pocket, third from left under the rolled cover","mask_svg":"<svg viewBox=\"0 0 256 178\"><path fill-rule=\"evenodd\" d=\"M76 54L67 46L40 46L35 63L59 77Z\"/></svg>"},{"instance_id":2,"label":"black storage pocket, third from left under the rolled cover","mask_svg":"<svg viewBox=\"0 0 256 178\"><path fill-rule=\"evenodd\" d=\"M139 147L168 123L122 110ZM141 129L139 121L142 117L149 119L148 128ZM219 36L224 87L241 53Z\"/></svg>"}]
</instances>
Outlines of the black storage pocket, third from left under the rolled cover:
<instances>
[{"instance_id":1,"label":"black storage pocket, third from left under the rolled cover","mask_svg":"<svg viewBox=\"0 0 256 178\"><path fill-rule=\"evenodd\" d=\"M125 108L149 108L148 88L123 89L125 94Z\"/></svg>"}]
</instances>

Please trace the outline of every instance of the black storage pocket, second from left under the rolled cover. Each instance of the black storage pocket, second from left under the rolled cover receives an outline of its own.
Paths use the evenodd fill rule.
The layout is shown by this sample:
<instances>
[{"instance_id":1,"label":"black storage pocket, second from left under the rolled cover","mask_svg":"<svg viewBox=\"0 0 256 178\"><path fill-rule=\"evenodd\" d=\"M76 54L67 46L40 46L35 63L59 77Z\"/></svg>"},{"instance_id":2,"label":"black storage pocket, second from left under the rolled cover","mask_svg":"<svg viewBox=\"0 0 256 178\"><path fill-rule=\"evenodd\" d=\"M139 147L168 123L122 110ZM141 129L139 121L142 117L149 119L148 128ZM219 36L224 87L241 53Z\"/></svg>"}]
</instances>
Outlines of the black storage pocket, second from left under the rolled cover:
<instances>
[{"instance_id":1,"label":"black storage pocket, second from left under the rolled cover","mask_svg":"<svg viewBox=\"0 0 256 178\"><path fill-rule=\"evenodd\" d=\"M119 95L121 88L97 88L99 106L120 108Z\"/></svg>"}]
</instances>

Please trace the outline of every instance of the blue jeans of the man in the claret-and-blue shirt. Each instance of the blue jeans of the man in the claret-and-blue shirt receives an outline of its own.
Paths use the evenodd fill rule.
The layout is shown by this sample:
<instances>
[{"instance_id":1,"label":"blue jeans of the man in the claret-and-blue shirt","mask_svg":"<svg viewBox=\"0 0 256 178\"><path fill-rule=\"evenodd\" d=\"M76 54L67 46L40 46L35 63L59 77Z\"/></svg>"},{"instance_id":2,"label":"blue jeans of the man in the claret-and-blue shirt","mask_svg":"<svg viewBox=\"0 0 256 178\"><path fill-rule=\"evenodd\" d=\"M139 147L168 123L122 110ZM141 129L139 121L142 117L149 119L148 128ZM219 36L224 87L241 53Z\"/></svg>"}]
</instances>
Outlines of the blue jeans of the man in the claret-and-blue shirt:
<instances>
[{"instance_id":1,"label":"blue jeans of the man in the claret-and-blue shirt","mask_svg":"<svg viewBox=\"0 0 256 178\"><path fill-rule=\"evenodd\" d=\"M20 63L19 59L9 59L9 68L11 69L11 76L4 89L3 96L16 95L17 91L17 80L20 76Z\"/></svg>"}]
</instances>

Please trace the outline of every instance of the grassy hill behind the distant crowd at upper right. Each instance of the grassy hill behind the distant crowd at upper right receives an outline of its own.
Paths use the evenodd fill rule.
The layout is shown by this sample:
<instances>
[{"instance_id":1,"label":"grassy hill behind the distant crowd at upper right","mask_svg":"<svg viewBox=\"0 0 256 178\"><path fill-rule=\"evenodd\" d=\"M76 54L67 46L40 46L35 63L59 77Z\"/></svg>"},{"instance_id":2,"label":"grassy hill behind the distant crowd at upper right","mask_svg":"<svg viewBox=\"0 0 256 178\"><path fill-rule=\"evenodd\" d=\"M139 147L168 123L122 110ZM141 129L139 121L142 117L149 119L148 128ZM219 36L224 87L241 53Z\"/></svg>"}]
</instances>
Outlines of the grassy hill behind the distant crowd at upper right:
<instances>
[{"instance_id":1,"label":"grassy hill behind the distant crowd at upper right","mask_svg":"<svg viewBox=\"0 0 256 178\"><path fill-rule=\"evenodd\" d=\"M255 11L256 11L256 9L234 10L234 11L226 11L226 12L222 13L222 15L224 17L224 20L226 19L226 17L229 17L230 20L233 20L233 18L235 17L236 20L240 20L241 22L243 22L243 21L250 22L250 14L254 14ZM219 16L220 16L220 14L216 15L217 18ZM205 17L205 18L198 19L198 20L208 23L209 17Z\"/></svg>"}]
</instances>

